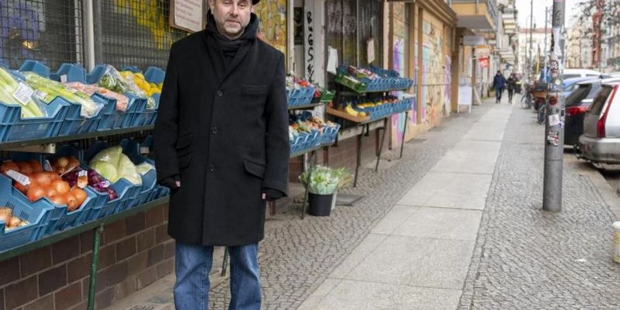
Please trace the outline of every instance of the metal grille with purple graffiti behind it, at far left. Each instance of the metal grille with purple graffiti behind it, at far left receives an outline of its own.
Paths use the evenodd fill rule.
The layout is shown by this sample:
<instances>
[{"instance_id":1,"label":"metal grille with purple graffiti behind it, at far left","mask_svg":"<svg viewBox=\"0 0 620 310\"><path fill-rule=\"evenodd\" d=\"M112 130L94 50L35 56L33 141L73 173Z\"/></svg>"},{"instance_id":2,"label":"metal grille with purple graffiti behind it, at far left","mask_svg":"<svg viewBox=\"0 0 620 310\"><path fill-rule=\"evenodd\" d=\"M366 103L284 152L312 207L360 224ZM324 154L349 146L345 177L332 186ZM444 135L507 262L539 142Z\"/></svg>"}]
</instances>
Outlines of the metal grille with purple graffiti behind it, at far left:
<instances>
[{"instance_id":1,"label":"metal grille with purple graffiti behind it, at far left","mask_svg":"<svg viewBox=\"0 0 620 310\"><path fill-rule=\"evenodd\" d=\"M83 63L82 0L0 0L0 59Z\"/></svg>"}]
</instances>

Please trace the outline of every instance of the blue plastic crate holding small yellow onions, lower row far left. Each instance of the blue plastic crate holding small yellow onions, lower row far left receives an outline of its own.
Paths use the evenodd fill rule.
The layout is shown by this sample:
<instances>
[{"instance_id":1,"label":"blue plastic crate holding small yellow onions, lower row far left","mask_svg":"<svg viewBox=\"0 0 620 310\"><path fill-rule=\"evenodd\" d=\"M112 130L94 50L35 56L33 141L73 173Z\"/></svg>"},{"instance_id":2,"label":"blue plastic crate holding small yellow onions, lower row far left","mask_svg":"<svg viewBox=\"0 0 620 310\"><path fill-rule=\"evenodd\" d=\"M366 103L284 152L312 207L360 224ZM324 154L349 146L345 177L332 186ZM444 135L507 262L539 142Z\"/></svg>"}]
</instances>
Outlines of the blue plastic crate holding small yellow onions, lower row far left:
<instances>
[{"instance_id":1,"label":"blue plastic crate holding small yellow onions, lower row far left","mask_svg":"<svg viewBox=\"0 0 620 310\"><path fill-rule=\"evenodd\" d=\"M10 178L0 175L0 205L9 207L14 216L28 220L30 224L7 230L6 223L0 221L0 251L41 238L54 211L52 205L45 205L42 200L30 203L27 199L15 196L11 183Z\"/></svg>"}]
</instances>

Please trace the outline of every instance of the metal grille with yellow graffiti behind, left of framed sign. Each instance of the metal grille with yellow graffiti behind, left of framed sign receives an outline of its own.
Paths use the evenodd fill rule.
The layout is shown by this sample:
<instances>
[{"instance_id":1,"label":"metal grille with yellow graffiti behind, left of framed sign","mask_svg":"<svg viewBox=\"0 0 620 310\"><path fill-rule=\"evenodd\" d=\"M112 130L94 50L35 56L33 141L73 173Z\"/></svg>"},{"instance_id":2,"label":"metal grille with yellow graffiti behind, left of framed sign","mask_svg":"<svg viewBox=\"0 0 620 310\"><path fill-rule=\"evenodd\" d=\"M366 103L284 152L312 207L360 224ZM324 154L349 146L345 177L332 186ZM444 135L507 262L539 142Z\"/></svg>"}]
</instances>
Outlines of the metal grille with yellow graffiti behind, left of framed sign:
<instances>
[{"instance_id":1,"label":"metal grille with yellow graffiti behind, left of framed sign","mask_svg":"<svg viewBox=\"0 0 620 310\"><path fill-rule=\"evenodd\" d=\"M206 8L206 6L205 6ZM164 68L170 45L188 33L169 26L169 0L101 1L102 35L95 47L103 54L97 62L116 68L150 65Z\"/></svg>"}]
</instances>

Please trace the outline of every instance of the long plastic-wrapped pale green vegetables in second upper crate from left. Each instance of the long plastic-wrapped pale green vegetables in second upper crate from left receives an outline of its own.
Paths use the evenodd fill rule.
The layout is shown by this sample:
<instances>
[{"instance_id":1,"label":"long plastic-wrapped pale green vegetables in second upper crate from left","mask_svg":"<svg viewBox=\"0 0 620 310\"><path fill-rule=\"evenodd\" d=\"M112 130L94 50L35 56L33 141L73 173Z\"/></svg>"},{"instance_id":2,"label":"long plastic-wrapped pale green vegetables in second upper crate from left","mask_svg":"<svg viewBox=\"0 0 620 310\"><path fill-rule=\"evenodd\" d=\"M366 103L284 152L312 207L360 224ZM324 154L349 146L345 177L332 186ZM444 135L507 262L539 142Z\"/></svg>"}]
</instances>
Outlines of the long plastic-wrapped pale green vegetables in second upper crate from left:
<instances>
[{"instance_id":1,"label":"long plastic-wrapped pale green vegetables in second upper crate from left","mask_svg":"<svg viewBox=\"0 0 620 310\"><path fill-rule=\"evenodd\" d=\"M34 72L23 72L23 76L26 83L34 88L37 97L45 103L50 103L56 96L61 96L70 103L81 105L80 116L85 118L91 118L103 109L103 104L94 102L87 94L63 83L45 79Z\"/></svg>"}]
</instances>

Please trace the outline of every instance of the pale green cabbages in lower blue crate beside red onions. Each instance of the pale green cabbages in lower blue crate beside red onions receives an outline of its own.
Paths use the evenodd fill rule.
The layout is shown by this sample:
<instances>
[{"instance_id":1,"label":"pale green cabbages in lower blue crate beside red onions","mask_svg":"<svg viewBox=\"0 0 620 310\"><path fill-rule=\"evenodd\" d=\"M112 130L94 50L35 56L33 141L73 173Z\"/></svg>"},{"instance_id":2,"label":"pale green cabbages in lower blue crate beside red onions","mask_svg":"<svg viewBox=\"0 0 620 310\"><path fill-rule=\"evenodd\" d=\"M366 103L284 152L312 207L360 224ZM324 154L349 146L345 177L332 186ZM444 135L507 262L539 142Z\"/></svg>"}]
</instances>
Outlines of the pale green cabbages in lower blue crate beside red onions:
<instances>
[{"instance_id":1,"label":"pale green cabbages in lower blue crate beside red onions","mask_svg":"<svg viewBox=\"0 0 620 310\"><path fill-rule=\"evenodd\" d=\"M90 167L112 183L125 178L134 185L142 185L142 177L136 165L123 154L119 146L108 147L96 154L90 161Z\"/></svg>"}]
</instances>

